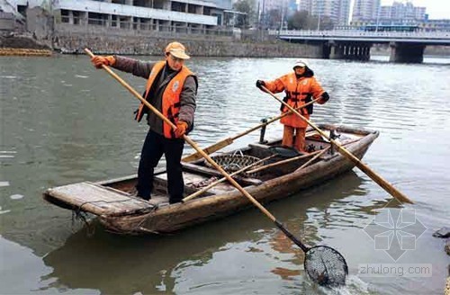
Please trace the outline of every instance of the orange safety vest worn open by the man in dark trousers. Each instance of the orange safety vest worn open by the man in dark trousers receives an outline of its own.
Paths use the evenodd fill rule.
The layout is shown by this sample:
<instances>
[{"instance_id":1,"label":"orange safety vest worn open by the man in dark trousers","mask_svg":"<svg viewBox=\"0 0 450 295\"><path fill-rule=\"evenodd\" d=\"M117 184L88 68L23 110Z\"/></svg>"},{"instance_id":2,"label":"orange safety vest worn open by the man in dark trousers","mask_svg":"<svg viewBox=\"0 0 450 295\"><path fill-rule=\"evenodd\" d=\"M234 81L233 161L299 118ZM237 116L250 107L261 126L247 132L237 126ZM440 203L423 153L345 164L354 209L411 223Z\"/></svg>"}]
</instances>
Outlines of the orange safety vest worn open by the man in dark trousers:
<instances>
[{"instance_id":1,"label":"orange safety vest worn open by the man in dark trousers","mask_svg":"<svg viewBox=\"0 0 450 295\"><path fill-rule=\"evenodd\" d=\"M165 66L166 61L162 60L158 61L151 69L150 75L148 76L147 87L144 96L146 100L151 86L153 85L153 83L155 83L157 74L159 74L159 72L161 72ZM160 112L162 112L162 114L175 125L178 121L178 115L180 113L180 94L183 90L184 81L188 76L193 76L195 78L193 72L191 72L189 68L183 66L181 70L166 85L166 89L163 93L162 110L160 110ZM140 103L138 114L136 115L137 121L140 121L140 119L142 119L142 116L144 115L144 108L145 104ZM175 139L174 130L172 129L172 127L170 127L169 124L166 123L166 121L163 121L163 132L166 139Z\"/></svg>"}]
</instances>

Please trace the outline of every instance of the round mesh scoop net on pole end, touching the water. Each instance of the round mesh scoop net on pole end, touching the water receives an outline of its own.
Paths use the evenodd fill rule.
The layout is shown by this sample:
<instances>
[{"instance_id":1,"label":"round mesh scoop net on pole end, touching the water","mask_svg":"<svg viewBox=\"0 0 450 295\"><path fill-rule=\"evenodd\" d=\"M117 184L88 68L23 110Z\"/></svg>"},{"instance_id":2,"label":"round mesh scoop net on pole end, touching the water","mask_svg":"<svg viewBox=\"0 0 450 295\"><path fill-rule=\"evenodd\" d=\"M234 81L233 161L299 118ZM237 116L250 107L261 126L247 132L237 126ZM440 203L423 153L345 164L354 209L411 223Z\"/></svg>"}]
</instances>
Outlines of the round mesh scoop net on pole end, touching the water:
<instances>
[{"instance_id":1,"label":"round mesh scoop net on pole end, touching the water","mask_svg":"<svg viewBox=\"0 0 450 295\"><path fill-rule=\"evenodd\" d=\"M308 249L304 266L311 280L322 286L336 287L346 284L346 259L329 246L314 246Z\"/></svg>"}]
</instances>

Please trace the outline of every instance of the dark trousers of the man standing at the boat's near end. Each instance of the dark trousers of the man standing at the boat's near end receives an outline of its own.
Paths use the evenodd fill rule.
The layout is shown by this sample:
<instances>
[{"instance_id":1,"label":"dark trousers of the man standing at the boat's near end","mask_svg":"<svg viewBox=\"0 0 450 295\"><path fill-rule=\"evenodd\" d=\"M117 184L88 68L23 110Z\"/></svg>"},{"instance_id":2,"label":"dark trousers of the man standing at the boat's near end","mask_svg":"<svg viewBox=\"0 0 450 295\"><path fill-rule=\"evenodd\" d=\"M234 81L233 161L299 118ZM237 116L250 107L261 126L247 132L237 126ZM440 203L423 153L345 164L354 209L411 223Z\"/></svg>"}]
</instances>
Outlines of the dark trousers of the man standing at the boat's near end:
<instances>
[{"instance_id":1,"label":"dark trousers of the man standing at the boat's near end","mask_svg":"<svg viewBox=\"0 0 450 295\"><path fill-rule=\"evenodd\" d=\"M148 200L153 189L153 173L163 154L166 156L167 189L169 202L183 199L184 182L181 166L184 139L166 139L163 135L149 130L142 147L138 168L138 193Z\"/></svg>"}]
</instances>

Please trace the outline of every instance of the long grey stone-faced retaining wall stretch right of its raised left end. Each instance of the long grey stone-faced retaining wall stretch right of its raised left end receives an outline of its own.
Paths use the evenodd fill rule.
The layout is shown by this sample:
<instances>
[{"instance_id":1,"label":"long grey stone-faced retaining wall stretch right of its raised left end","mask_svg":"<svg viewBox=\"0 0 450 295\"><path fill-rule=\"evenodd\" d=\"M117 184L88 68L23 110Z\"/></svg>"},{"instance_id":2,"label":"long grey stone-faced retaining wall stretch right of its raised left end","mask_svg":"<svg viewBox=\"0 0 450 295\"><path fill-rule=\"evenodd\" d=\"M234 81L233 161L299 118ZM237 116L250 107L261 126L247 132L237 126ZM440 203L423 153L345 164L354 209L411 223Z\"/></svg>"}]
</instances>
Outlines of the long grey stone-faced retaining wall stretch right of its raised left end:
<instances>
[{"instance_id":1,"label":"long grey stone-faced retaining wall stretch right of its raised left end","mask_svg":"<svg viewBox=\"0 0 450 295\"><path fill-rule=\"evenodd\" d=\"M320 58L322 49L312 45L290 44L284 41L243 42L237 40L189 40L136 36L105 36L75 33L57 33L55 49L63 53L83 53L92 49L97 54L161 55L170 41L178 40L189 54L197 57L251 57L251 58Z\"/></svg>"}]
</instances>

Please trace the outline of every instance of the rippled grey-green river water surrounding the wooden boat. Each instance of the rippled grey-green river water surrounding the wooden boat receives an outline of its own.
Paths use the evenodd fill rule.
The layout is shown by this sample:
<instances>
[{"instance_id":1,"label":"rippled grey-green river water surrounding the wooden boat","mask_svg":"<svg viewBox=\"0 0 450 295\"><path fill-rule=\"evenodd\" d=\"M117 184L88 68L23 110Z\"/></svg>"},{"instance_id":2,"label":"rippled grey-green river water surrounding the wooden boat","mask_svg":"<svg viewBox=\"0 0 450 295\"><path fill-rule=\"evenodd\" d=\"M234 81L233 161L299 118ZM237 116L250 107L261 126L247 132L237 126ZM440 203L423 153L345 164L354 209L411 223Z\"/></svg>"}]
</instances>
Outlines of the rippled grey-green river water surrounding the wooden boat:
<instances>
[{"instance_id":1,"label":"rippled grey-green river water surrounding the wooden boat","mask_svg":"<svg viewBox=\"0 0 450 295\"><path fill-rule=\"evenodd\" d=\"M190 60L200 77L192 139L205 147L275 116L278 103L259 92L255 81L281 76L293 62ZM41 192L134 174L147 131L132 119L138 102L85 56L0 57L0 293L442 293L450 256L445 240L432 233L450 226L450 59L310 64L331 95L311 120L380 130L365 163L415 201L404 207L415 219L403 228L413 247L400 258L376 246L365 230L376 210L400 207L357 169L267 205L306 244L333 246L346 257L350 275L338 290L306 279L302 252L258 210L163 237L113 235L95 221L86 227L70 211L43 201ZM143 79L121 76L143 91ZM266 137L274 139L281 130L272 124ZM230 148L258 137L252 133ZM367 274L368 265L391 271L373 268ZM401 275L410 265L428 268Z\"/></svg>"}]
</instances>

